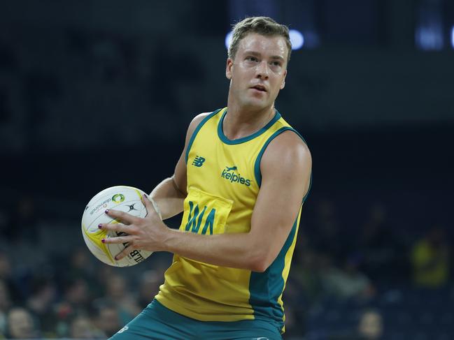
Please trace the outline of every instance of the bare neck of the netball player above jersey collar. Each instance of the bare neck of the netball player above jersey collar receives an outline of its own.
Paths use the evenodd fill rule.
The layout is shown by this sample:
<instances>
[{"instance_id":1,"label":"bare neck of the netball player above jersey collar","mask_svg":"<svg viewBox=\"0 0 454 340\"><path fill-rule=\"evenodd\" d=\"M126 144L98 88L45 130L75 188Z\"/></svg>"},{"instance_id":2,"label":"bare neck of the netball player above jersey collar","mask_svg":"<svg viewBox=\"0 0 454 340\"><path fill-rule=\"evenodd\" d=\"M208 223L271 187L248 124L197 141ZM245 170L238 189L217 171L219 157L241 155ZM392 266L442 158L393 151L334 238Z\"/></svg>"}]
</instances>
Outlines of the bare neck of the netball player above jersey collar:
<instances>
[{"instance_id":1,"label":"bare neck of the netball player above jersey collar","mask_svg":"<svg viewBox=\"0 0 454 340\"><path fill-rule=\"evenodd\" d=\"M262 110L249 110L236 105L228 105L222 131L229 140L247 137L267 125L275 114L274 105Z\"/></svg>"}]
</instances>

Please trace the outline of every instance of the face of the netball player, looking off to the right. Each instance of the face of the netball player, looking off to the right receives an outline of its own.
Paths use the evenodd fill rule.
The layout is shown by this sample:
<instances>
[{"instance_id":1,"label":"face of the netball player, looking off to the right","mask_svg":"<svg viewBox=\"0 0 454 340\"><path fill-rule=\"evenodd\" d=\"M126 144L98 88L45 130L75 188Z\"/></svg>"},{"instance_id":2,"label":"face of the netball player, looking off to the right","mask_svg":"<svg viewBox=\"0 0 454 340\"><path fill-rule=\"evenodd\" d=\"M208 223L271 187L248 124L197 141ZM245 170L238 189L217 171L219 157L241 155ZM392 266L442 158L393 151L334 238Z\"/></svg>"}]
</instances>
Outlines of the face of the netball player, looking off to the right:
<instances>
[{"instance_id":1,"label":"face of the netball player, looking off to the right","mask_svg":"<svg viewBox=\"0 0 454 340\"><path fill-rule=\"evenodd\" d=\"M229 94L241 107L271 107L285 86L287 56L282 36L248 34L240 41L235 59L227 59Z\"/></svg>"}]
</instances>

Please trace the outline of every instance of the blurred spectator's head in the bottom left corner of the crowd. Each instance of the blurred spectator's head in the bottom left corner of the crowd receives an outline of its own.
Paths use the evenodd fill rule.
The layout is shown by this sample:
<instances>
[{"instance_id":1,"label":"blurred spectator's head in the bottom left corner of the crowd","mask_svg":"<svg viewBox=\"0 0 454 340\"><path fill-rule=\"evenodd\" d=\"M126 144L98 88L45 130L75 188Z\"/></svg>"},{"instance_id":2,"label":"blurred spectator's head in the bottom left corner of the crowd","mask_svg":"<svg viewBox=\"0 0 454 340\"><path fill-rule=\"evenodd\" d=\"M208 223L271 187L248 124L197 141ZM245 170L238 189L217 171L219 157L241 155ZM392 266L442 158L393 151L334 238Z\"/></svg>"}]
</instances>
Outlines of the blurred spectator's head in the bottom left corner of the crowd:
<instances>
[{"instance_id":1,"label":"blurred spectator's head in the bottom left corner of the crowd","mask_svg":"<svg viewBox=\"0 0 454 340\"><path fill-rule=\"evenodd\" d=\"M8 312L8 332L10 339L36 339L40 336L39 330L27 309L14 307Z\"/></svg>"}]
</instances>

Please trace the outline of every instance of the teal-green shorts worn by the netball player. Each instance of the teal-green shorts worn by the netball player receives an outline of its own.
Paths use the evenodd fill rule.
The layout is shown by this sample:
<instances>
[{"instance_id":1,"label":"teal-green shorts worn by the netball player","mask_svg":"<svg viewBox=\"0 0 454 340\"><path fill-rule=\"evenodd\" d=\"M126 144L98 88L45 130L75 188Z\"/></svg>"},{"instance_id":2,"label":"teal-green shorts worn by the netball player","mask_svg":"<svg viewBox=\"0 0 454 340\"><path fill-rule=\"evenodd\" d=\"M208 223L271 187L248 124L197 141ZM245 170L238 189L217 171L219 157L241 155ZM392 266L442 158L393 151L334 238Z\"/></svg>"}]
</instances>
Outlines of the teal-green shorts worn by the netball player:
<instances>
[{"instance_id":1,"label":"teal-green shorts worn by the netball player","mask_svg":"<svg viewBox=\"0 0 454 340\"><path fill-rule=\"evenodd\" d=\"M111 340L281 340L278 328L264 320L199 321L153 300Z\"/></svg>"}]
</instances>

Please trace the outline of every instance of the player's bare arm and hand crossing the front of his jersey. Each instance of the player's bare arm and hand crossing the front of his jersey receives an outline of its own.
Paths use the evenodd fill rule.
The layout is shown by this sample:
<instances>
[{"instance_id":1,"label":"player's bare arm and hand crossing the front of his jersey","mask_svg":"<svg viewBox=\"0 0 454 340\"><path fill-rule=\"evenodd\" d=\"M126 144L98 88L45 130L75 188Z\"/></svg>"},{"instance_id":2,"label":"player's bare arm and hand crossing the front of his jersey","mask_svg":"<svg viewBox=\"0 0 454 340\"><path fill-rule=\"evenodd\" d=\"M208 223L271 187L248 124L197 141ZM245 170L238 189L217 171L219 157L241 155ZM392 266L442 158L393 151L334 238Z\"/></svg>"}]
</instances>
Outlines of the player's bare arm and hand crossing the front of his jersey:
<instances>
[{"instance_id":1,"label":"player's bare arm and hand crossing the front of his jersey","mask_svg":"<svg viewBox=\"0 0 454 340\"><path fill-rule=\"evenodd\" d=\"M103 228L128 232L129 236L106 239L129 242L122 258L133 249L170 251L213 265L262 272L274 261L290 234L311 176L311 154L295 133L284 132L273 140L260 165L262 186L257 197L251 229L247 233L198 235L171 230L159 220L151 202L144 198L149 213L139 219L122 212L109 212L130 226L112 224Z\"/></svg>"}]
</instances>

